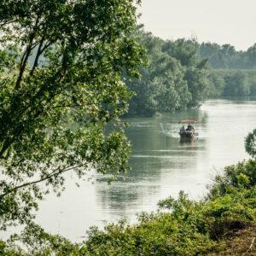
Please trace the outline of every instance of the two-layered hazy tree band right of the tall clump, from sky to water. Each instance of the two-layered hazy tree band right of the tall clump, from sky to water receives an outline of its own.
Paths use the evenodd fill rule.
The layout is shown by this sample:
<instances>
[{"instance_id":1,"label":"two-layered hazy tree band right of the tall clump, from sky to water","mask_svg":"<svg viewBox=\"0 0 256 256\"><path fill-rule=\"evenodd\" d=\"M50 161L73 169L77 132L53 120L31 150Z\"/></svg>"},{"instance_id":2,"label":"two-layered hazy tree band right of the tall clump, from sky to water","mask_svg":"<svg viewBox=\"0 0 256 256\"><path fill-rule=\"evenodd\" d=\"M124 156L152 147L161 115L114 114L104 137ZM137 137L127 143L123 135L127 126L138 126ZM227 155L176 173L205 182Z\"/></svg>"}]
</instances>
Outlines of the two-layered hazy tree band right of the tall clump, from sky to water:
<instances>
[{"instance_id":1,"label":"two-layered hazy tree band right of the tall clump, from sky to water","mask_svg":"<svg viewBox=\"0 0 256 256\"><path fill-rule=\"evenodd\" d=\"M208 97L256 96L256 44L237 51L230 44L198 44L200 58L211 70Z\"/></svg>"}]
</instances>

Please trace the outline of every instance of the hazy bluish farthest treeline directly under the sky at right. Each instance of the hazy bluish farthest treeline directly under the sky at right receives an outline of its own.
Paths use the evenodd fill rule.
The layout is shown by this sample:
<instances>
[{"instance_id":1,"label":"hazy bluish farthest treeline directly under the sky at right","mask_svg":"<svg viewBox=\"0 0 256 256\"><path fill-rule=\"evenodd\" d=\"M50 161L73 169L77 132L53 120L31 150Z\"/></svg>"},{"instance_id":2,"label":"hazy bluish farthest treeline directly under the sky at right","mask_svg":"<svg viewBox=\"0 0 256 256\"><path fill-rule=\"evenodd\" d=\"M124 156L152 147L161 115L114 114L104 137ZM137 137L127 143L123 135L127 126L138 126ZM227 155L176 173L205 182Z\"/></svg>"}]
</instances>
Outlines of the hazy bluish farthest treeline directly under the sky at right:
<instances>
[{"instance_id":1,"label":"hazy bluish farthest treeline directly under the sky at right","mask_svg":"<svg viewBox=\"0 0 256 256\"><path fill-rule=\"evenodd\" d=\"M256 44L246 51L236 50L230 44L202 43L198 45L198 54L207 58L212 68L253 69L256 68Z\"/></svg>"}]
</instances>

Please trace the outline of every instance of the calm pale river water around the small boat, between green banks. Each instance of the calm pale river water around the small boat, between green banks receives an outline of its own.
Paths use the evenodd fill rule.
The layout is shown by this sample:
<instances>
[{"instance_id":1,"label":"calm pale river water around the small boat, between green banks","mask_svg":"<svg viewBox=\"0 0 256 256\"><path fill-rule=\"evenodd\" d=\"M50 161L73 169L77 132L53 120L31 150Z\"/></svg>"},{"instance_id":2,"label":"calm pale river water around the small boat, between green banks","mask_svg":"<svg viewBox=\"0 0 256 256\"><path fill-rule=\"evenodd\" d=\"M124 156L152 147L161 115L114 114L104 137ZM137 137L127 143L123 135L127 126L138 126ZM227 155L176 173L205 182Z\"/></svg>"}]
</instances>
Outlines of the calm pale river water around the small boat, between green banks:
<instances>
[{"instance_id":1,"label":"calm pale river water around the small boat, between green banks","mask_svg":"<svg viewBox=\"0 0 256 256\"><path fill-rule=\"evenodd\" d=\"M180 143L179 119L198 119L199 137ZM78 188L72 174L60 198L49 195L37 213L45 230L81 241L92 225L120 218L137 219L137 212L154 211L157 202L184 190L192 199L206 194L206 185L224 166L247 159L244 138L256 127L256 101L209 100L189 112L154 118L126 119L133 151L131 172L108 185L96 175L94 183Z\"/></svg>"}]
</instances>

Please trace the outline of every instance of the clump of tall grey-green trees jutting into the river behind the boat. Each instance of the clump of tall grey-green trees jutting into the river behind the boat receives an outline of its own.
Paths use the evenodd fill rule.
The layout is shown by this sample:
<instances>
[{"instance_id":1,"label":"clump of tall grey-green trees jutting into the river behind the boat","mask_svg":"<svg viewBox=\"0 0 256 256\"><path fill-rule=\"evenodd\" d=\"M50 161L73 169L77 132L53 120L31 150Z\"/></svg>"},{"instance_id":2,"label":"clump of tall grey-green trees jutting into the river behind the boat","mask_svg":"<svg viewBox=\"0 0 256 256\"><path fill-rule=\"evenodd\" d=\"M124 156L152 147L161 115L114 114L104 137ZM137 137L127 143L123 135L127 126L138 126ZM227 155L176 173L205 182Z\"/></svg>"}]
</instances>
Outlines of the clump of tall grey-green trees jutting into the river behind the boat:
<instances>
[{"instance_id":1,"label":"clump of tall grey-green trees jutting into the river behind the boat","mask_svg":"<svg viewBox=\"0 0 256 256\"><path fill-rule=\"evenodd\" d=\"M138 32L148 51L148 66L140 67L141 78L125 84L136 96L131 98L128 115L197 108L210 88L207 60L201 60L193 40L164 41L151 33Z\"/></svg>"}]
</instances>

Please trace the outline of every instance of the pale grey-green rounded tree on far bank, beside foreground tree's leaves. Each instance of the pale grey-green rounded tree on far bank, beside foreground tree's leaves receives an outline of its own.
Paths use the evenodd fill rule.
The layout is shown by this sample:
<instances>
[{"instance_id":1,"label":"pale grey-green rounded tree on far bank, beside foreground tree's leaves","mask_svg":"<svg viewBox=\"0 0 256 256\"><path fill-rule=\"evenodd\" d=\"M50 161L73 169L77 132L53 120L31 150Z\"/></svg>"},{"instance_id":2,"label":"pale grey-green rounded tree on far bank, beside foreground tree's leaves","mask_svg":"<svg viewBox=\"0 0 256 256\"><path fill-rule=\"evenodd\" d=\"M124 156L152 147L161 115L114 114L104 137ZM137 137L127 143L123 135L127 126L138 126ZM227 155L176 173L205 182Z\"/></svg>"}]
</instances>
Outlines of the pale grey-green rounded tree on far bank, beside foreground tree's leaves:
<instances>
[{"instance_id":1,"label":"pale grey-green rounded tree on far bank, beside foreground tree's leaves","mask_svg":"<svg viewBox=\"0 0 256 256\"><path fill-rule=\"evenodd\" d=\"M140 79L132 79L127 84L136 95L131 98L129 114L152 116L186 108L190 93L183 80L184 68L162 51L162 39L142 30L138 35L141 44L148 49L148 66L139 68Z\"/></svg>"}]
</instances>

